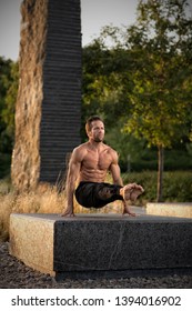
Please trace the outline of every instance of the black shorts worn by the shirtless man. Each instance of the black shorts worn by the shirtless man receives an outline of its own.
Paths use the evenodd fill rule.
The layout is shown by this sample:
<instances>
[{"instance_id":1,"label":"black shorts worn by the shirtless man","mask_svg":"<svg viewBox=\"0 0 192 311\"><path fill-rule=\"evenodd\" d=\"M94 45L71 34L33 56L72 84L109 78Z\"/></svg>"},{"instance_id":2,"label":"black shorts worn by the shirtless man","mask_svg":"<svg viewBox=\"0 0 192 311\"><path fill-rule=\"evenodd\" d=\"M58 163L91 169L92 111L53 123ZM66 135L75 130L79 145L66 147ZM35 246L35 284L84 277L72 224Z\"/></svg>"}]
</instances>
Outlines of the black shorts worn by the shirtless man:
<instances>
[{"instance_id":1,"label":"black shorts worn by the shirtless man","mask_svg":"<svg viewBox=\"0 0 192 311\"><path fill-rule=\"evenodd\" d=\"M122 201L123 198L120 195L121 188L121 185L107 182L81 181L74 194L80 205L88 209L100 209L110 202L114 202L115 200ZM101 193L102 190L108 190L110 192L110 198L101 198L99 193Z\"/></svg>"}]
</instances>

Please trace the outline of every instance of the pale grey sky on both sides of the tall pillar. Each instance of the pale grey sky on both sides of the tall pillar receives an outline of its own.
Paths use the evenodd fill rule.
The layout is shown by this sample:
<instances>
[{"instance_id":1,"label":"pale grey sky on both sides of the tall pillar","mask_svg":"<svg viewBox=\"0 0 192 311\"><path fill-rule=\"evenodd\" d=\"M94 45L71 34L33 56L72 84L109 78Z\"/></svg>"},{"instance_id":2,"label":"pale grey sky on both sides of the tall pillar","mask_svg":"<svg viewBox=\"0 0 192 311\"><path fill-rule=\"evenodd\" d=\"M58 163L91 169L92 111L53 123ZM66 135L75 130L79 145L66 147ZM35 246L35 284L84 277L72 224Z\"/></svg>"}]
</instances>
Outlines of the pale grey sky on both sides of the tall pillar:
<instances>
[{"instance_id":1,"label":"pale grey sky on both sides of the tall pillar","mask_svg":"<svg viewBox=\"0 0 192 311\"><path fill-rule=\"evenodd\" d=\"M133 23L138 1L81 0L82 46L97 38L104 26L123 27ZM19 57L21 2L22 0L0 0L0 56L13 61Z\"/></svg>"}]
</instances>

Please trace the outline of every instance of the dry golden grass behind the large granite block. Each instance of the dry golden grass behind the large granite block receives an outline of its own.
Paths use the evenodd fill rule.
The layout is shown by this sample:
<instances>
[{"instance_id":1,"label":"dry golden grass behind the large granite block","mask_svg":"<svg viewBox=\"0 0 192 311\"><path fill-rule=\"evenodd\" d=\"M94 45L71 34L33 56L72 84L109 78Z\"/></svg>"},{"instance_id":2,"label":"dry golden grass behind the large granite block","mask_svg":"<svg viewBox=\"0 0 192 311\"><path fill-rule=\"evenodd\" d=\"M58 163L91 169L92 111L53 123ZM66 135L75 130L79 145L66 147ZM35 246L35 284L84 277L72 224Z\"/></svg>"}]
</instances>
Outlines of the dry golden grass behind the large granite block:
<instances>
[{"instance_id":1,"label":"dry golden grass behind the large granite block","mask_svg":"<svg viewBox=\"0 0 192 311\"><path fill-rule=\"evenodd\" d=\"M0 241L9 239L9 219L11 213L58 213L65 208L65 193L58 193L54 187L48 184L37 191L18 194L7 181L0 180ZM74 203L74 213L119 213L120 202L108 204L102 209L84 209Z\"/></svg>"}]
</instances>

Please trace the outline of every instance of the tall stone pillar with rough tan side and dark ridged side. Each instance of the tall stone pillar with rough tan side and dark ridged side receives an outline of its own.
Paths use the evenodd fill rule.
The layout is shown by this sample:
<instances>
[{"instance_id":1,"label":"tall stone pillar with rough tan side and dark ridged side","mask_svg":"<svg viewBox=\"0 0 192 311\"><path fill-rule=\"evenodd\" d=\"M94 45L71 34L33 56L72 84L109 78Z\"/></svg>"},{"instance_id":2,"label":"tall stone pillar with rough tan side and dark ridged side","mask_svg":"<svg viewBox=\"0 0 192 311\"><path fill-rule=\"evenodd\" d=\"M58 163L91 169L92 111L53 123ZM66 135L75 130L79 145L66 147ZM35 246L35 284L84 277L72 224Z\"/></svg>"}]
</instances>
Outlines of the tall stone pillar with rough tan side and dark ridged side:
<instances>
[{"instance_id":1,"label":"tall stone pillar with rough tan side and dark ridged side","mask_svg":"<svg viewBox=\"0 0 192 311\"><path fill-rule=\"evenodd\" d=\"M21 4L20 83L12 183L18 190L57 183L80 143L80 0Z\"/></svg>"}]
</instances>

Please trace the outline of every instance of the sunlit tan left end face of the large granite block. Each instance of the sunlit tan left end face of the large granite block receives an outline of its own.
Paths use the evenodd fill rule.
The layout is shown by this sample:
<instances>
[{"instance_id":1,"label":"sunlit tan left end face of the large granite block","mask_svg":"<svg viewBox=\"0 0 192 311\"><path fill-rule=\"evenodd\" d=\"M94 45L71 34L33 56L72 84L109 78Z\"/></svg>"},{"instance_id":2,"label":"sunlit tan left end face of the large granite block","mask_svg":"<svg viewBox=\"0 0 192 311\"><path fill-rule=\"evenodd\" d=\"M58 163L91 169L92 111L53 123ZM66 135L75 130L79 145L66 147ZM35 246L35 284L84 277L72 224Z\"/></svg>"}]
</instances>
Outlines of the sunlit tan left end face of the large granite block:
<instances>
[{"instance_id":1,"label":"sunlit tan left end face of the large granite block","mask_svg":"<svg viewBox=\"0 0 192 311\"><path fill-rule=\"evenodd\" d=\"M54 220L27 214L10 217L10 253L27 265L54 275Z\"/></svg>"}]
</instances>

